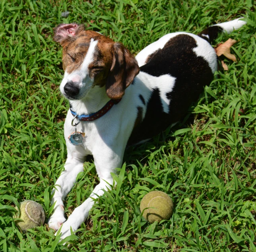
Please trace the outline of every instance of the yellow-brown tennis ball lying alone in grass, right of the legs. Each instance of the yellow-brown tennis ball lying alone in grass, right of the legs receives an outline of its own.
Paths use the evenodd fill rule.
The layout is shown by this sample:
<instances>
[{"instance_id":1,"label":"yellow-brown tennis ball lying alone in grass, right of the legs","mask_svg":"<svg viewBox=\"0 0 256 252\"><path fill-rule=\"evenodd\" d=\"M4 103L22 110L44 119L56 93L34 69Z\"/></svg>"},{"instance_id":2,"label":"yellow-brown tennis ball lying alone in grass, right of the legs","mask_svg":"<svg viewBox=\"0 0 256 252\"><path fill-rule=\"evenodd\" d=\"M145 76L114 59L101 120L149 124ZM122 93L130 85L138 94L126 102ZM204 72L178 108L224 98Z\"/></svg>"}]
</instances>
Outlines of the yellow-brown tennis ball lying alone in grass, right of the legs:
<instances>
[{"instance_id":1,"label":"yellow-brown tennis ball lying alone in grass, right of the legs","mask_svg":"<svg viewBox=\"0 0 256 252\"><path fill-rule=\"evenodd\" d=\"M149 223L163 219L169 220L173 214L173 201L165 192L152 191L146 194L140 202L140 211L143 210L143 217Z\"/></svg>"}]
</instances>

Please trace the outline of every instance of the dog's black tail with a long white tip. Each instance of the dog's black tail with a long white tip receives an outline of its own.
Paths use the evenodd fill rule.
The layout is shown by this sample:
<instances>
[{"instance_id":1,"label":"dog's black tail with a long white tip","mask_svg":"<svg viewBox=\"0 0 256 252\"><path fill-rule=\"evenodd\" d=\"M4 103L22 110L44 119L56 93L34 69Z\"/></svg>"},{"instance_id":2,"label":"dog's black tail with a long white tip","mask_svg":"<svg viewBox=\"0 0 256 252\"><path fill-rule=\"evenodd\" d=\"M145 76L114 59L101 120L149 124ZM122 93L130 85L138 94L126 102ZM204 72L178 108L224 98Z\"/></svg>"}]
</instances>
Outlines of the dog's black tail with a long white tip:
<instances>
[{"instance_id":1,"label":"dog's black tail with a long white tip","mask_svg":"<svg viewBox=\"0 0 256 252\"><path fill-rule=\"evenodd\" d=\"M198 36L201 37L202 39L205 39L209 43L211 43L211 42L213 42L214 39L216 39L218 37L218 33L223 32L223 31L225 31L227 33L231 33L231 31L237 30L240 27L242 27L243 25L245 25L246 22L242 21L240 19L241 18L237 18L232 21L225 22L225 23L218 23L216 25L212 25L212 26L204 29L204 31L199 33Z\"/></svg>"}]
</instances>

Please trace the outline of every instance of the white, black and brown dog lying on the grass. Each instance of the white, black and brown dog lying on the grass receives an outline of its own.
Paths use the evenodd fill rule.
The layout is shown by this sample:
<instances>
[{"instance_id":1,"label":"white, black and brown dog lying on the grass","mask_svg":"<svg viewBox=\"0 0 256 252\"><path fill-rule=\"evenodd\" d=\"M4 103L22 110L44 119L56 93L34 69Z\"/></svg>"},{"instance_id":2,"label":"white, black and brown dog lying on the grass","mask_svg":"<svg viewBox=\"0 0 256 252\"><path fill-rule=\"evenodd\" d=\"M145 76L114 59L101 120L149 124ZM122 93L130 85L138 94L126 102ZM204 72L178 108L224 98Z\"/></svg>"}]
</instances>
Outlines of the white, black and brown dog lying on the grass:
<instances>
[{"instance_id":1,"label":"white, black and brown dog lying on the grass","mask_svg":"<svg viewBox=\"0 0 256 252\"><path fill-rule=\"evenodd\" d=\"M95 199L111 190L126 145L145 142L178 122L213 80L217 56L211 42L230 33L240 19L213 25L198 35L170 33L136 58L121 43L76 23L55 28L63 48L60 91L70 101L64 124L67 160L52 190L49 227L71 235L87 219ZM63 200L93 155L99 184L66 220ZM94 200L93 200L94 199Z\"/></svg>"}]
</instances>

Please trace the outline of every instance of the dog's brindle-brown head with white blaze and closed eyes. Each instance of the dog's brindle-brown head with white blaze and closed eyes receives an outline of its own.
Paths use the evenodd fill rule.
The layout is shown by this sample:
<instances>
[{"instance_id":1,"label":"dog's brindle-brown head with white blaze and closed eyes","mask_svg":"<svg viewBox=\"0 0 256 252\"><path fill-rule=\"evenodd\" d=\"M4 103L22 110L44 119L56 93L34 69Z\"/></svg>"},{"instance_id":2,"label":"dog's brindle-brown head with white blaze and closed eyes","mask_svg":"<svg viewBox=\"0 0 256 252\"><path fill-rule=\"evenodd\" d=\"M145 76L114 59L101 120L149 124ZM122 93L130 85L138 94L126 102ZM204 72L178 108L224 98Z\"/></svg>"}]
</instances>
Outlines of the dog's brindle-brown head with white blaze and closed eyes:
<instances>
[{"instance_id":1,"label":"dog's brindle-brown head with white blaze and closed eyes","mask_svg":"<svg viewBox=\"0 0 256 252\"><path fill-rule=\"evenodd\" d=\"M120 43L76 23L55 28L54 40L63 47L62 94L79 100L94 86L106 87L111 99L124 95L140 68L134 56Z\"/></svg>"}]
</instances>

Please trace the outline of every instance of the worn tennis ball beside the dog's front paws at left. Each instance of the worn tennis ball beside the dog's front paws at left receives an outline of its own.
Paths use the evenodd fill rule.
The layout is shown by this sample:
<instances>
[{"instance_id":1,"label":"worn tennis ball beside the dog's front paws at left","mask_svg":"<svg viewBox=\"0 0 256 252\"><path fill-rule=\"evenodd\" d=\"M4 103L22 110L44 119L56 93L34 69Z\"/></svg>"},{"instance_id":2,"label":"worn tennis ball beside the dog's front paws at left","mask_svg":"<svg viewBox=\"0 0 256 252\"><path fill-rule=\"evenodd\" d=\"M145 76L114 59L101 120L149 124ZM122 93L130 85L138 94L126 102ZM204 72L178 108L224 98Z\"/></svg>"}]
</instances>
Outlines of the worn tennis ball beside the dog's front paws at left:
<instances>
[{"instance_id":1,"label":"worn tennis ball beside the dog's front paws at left","mask_svg":"<svg viewBox=\"0 0 256 252\"><path fill-rule=\"evenodd\" d=\"M15 207L16 209L17 206ZM22 231L33 229L34 227L41 226L45 222L45 211L43 207L33 200L25 200L19 203L20 214L14 215L14 218L22 219L22 221L15 221Z\"/></svg>"}]
</instances>

